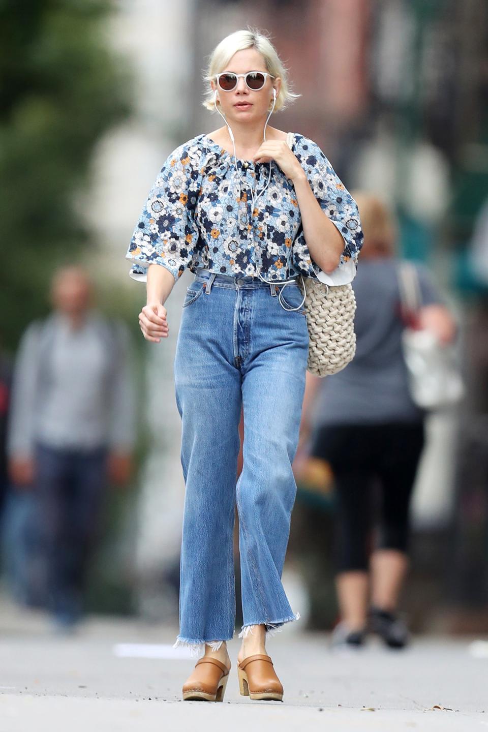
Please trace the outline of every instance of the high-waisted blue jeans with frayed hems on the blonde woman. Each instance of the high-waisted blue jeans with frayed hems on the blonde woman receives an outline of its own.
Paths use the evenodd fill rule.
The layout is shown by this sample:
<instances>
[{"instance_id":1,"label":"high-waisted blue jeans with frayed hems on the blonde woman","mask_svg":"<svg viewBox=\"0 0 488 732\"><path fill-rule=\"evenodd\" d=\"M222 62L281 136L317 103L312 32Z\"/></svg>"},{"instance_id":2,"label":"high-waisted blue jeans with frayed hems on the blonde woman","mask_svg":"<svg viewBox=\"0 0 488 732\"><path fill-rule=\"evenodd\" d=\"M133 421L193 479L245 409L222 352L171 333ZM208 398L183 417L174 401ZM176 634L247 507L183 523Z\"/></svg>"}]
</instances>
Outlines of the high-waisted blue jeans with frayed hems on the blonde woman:
<instances>
[{"instance_id":1,"label":"high-waisted blue jeans with frayed hems on the blonde woman","mask_svg":"<svg viewBox=\"0 0 488 732\"><path fill-rule=\"evenodd\" d=\"M279 289L285 305L279 302ZM185 481L180 632L175 647L233 638L235 508L244 624L273 635L293 613L281 576L296 497L309 336L299 285L199 268L187 289L174 362ZM244 466L239 421L244 406Z\"/></svg>"}]
</instances>

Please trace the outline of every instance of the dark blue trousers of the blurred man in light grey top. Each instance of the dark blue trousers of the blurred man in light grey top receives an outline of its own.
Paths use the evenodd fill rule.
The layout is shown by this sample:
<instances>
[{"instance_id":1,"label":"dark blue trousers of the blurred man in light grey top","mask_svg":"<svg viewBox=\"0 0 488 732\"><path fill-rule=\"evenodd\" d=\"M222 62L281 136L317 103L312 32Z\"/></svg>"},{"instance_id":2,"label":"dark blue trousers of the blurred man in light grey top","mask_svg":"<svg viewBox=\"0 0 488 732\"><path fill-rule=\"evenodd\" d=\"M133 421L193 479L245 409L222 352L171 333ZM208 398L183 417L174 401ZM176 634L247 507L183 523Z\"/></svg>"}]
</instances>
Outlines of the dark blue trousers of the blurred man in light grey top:
<instances>
[{"instance_id":1,"label":"dark blue trousers of the blurred man in light grey top","mask_svg":"<svg viewBox=\"0 0 488 732\"><path fill-rule=\"evenodd\" d=\"M48 610L70 624L83 614L86 569L99 537L108 449L36 445L35 493Z\"/></svg>"}]
</instances>

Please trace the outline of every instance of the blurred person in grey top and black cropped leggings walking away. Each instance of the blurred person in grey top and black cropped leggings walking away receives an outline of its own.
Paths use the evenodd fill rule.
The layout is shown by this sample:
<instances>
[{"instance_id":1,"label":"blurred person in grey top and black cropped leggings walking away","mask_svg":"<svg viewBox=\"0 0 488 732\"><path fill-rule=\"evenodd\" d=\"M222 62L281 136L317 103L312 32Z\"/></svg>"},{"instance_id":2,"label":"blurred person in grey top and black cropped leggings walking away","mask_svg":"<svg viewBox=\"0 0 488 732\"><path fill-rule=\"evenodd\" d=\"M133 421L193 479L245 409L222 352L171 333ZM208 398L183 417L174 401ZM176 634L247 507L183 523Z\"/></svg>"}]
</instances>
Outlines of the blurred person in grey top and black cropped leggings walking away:
<instances>
[{"instance_id":1,"label":"blurred person in grey top and black cropped leggings walking away","mask_svg":"<svg viewBox=\"0 0 488 732\"><path fill-rule=\"evenodd\" d=\"M309 453L326 460L334 474L341 621L332 642L361 646L370 630L388 646L401 647L408 628L397 610L408 569L408 513L425 413L410 396L402 354L397 225L375 195L353 196L364 231L353 283L356 356L334 376L321 380L307 374L302 426L306 435L313 422ZM455 335L454 319L428 270L416 265L416 272L422 302L418 325L448 343Z\"/></svg>"}]
</instances>

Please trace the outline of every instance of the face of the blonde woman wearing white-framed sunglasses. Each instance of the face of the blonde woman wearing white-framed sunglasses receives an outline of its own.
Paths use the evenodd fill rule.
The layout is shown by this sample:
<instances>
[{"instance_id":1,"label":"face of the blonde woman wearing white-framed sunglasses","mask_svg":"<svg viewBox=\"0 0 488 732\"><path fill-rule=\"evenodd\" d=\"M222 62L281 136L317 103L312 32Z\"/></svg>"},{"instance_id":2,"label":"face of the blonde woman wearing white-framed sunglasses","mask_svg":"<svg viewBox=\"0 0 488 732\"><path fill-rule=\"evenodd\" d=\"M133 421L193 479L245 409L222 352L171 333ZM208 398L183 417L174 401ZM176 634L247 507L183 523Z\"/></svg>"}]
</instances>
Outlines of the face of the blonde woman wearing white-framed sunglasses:
<instances>
[{"instance_id":1,"label":"face of the blonde woman wearing white-framed sunglasses","mask_svg":"<svg viewBox=\"0 0 488 732\"><path fill-rule=\"evenodd\" d=\"M245 51L237 51L229 63L221 72L233 72L234 74L247 74L249 71L266 72L266 65L263 56L255 48L247 48ZM253 91L249 89L246 80L241 77L232 91L222 91L217 82L211 82L212 90L217 89L217 105L220 102L220 111L232 127L232 122L245 122L257 124L266 119L271 109L270 102L273 102L273 86L279 93L281 79L266 77L263 89Z\"/></svg>"}]
</instances>

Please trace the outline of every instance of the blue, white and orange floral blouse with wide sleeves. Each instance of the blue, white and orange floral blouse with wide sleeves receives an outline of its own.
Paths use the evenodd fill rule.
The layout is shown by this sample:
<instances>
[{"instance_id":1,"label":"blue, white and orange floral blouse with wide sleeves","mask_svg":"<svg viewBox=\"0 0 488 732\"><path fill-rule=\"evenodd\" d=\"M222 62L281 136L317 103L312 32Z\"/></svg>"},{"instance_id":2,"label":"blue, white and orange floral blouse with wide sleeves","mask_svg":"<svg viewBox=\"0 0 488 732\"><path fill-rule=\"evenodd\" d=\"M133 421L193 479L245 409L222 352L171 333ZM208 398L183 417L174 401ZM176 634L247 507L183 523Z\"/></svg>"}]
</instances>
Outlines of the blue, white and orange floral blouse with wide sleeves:
<instances>
[{"instance_id":1,"label":"blue, white and orange floral blouse with wide sleeves","mask_svg":"<svg viewBox=\"0 0 488 732\"><path fill-rule=\"evenodd\" d=\"M356 275L363 242L356 202L318 145L293 135L293 153L323 211L344 239L339 266L327 275L312 261L301 226L293 182L271 161L271 181L251 210L249 187L268 181L269 164L237 160L200 134L168 156L143 206L127 250L134 280L146 281L150 264L161 264L175 280L198 266L235 277L260 275L286 280L304 275L331 285ZM251 223L252 222L252 223Z\"/></svg>"}]
</instances>

